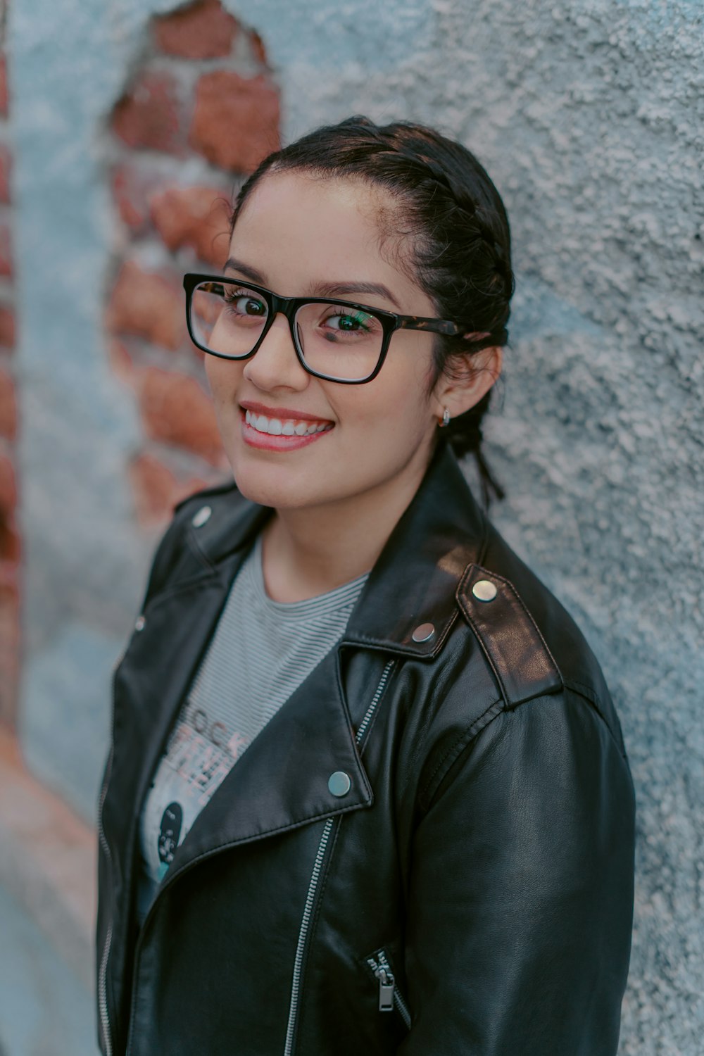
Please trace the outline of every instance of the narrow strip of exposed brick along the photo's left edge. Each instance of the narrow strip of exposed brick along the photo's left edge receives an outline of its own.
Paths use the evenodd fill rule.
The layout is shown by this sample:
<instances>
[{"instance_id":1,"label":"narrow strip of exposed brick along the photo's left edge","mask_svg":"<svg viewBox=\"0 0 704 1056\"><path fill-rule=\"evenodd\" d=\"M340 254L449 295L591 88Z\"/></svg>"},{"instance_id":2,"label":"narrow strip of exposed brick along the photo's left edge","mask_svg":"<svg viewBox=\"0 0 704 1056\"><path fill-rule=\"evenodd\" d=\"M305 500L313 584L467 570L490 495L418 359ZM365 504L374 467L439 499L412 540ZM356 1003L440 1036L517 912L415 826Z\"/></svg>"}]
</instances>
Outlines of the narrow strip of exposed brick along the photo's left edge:
<instances>
[{"instance_id":1,"label":"narrow strip of exposed brick along the photo's left edge","mask_svg":"<svg viewBox=\"0 0 704 1056\"><path fill-rule=\"evenodd\" d=\"M12 243L12 147L5 55L6 3L0 0L0 723L14 727L19 674L20 538L16 520L17 399Z\"/></svg>"}]
</instances>

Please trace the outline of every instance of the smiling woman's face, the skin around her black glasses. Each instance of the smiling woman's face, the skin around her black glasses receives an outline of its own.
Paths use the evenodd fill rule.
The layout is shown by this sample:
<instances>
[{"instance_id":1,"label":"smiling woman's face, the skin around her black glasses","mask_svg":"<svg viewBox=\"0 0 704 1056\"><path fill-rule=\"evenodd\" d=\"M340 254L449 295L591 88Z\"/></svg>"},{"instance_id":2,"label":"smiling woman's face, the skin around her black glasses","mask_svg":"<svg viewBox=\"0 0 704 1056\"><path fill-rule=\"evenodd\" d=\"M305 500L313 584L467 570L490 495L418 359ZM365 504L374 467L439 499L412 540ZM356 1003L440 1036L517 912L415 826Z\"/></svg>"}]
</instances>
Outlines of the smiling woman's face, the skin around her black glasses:
<instances>
[{"instance_id":1,"label":"smiling woman's face, the skin around her black glasses","mask_svg":"<svg viewBox=\"0 0 704 1056\"><path fill-rule=\"evenodd\" d=\"M233 231L226 275L256 281L284 297L338 296L398 312L435 316L427 296L380 252L384 192L346 180L302 173L267 175ZM243 266L248 270L243 270ZM355 290L356 285L364 290ZM366 287L383 287L368 293ZM235 482L254 502L278 509L339 505L407 485L413 494L427 465L442 408L429 395L430 334L397 331L373 381L345 385L312 377L299 363L288 321L279 315L245 361L206 356L218 428ZM268 434L246 421L278 418L315 438ZM265 423L264 428L266 428ZM278 427L274 427L278 428ZM290 426L286 427L290 431ZM410 496L408 496L410 497Z\"/></svg>"}]
</instances>

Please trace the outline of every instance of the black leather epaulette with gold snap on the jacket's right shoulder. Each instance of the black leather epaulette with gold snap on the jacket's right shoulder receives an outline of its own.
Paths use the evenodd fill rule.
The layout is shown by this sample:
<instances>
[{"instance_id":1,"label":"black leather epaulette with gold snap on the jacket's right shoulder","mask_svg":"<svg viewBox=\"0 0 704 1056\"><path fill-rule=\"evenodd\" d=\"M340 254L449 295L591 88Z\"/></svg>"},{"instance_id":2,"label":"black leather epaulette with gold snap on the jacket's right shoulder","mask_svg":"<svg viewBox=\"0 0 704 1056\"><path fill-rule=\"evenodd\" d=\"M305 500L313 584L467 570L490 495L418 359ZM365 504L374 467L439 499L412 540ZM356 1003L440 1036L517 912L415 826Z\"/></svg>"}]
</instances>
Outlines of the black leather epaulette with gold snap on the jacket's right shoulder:
<instances>
[{"instance_id":1,"label":"black leather epaulette with gold snap on the jacket's right shoulder","mask_svg":"<svg viewBox=\"0 0 704 1056\"><path fill-rule=\"evenodd\" d=\"M469 565L457 587L457 603L509 708L563 689L557 663L510 580Z\"/></svg>"}]
</instances>

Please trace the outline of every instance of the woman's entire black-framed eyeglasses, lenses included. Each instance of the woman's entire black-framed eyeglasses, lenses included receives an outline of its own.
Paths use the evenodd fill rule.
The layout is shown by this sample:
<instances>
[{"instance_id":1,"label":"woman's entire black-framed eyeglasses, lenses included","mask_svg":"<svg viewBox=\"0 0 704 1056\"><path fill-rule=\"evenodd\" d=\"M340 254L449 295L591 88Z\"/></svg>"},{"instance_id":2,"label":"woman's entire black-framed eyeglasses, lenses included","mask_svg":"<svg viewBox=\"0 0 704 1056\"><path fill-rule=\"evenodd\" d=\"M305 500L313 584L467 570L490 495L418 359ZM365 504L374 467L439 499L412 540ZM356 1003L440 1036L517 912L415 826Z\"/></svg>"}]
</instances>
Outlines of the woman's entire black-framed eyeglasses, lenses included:
<instances>
[{"instance_id":1,"label":"woman's entire black-framed eyeglasses, lenses included","mask_svg":"<svg viewBox=\"0 0 704 1056\"><path fill-rule=\"evenodd\" d=\"M399 316L327 297L279 297L264 286L221 276L185 275L184 289L188 333L202 352L249 359L281 312L303 370L347 385L376 378L394 331L462 333L446 319Z\"/></svg>"}]
</instances>

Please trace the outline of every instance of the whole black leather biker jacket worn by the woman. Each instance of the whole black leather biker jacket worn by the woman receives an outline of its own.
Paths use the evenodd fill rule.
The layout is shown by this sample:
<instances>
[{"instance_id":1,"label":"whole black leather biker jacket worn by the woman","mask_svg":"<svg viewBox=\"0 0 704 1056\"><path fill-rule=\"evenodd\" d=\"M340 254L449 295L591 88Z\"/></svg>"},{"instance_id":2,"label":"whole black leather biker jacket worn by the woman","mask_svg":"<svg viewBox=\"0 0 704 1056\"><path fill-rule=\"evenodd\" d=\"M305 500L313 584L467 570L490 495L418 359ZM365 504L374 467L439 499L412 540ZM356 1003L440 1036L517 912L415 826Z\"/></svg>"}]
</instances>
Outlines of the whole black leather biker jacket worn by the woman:
<instances>
[{"instance_id":1,"label":"whole black leather biker jacket worn by the woman","mask_svg":"<svg viewBox=\"0 0 704 1056\"><path fill-rule=\"evenodd\" d=\"M140 805L269 513L233 486L177 508L116 670L102 1052L612 1056L633 885L619 721L444 447L339 647L237 760L138 930Z\"/></svg>"}]
</instances>

